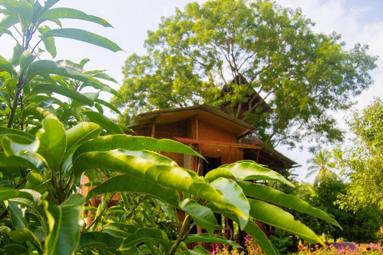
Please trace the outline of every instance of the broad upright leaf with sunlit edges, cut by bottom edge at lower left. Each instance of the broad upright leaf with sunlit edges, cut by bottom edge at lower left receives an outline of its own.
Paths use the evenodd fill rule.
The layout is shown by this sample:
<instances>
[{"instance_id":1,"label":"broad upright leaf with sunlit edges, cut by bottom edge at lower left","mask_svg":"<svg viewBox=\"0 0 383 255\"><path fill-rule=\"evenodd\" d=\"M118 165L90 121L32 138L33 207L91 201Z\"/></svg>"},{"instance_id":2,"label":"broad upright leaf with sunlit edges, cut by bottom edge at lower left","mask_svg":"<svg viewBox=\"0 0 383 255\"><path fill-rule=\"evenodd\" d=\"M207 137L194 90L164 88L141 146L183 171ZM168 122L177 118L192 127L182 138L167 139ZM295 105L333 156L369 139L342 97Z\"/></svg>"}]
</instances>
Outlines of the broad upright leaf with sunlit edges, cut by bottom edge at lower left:
<instances>
[{"instance_id":1,"label":"broad upright leaf with sunlit edges, cut by bottom edge at lower left","mask_svg":"<svg viewBox=\"0 0 383 255\"><path fill-rule=\"evenodd\" d=\"M71 255L80 242L85 198L72 194L59 206L45 203L49 234L45 240L47 255Z\"/></svg>"}]
</instances>

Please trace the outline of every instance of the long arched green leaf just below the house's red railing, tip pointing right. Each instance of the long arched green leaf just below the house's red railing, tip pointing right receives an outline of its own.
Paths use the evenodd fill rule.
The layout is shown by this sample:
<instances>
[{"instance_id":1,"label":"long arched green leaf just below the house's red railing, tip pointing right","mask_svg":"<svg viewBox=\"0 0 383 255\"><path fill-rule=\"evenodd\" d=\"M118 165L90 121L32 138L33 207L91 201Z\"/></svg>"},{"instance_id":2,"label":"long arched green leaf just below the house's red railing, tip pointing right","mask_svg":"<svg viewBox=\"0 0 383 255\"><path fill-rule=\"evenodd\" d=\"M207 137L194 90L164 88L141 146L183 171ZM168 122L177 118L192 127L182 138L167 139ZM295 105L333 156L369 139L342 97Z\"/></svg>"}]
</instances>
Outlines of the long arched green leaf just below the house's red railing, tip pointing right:
<instances>
[{"instance_id":1,"label":"long arched green leaf just below the house's red railing, tip pointing right","mask_svg":"<svg viewBox=\"0 0 383 255\"><path fill-rule=\"evenodd\" d=\"M93 150L108 151L114 149L177 152L203 158L201 154L191 149L189 146L174 140L158 140L151 137L130 136L125 134L101 136L97 139L87 141L84 144L82 144L79 148L77 148L73 155L73 158L75 159L80 154Z\"/></svg>"}]
</instances>

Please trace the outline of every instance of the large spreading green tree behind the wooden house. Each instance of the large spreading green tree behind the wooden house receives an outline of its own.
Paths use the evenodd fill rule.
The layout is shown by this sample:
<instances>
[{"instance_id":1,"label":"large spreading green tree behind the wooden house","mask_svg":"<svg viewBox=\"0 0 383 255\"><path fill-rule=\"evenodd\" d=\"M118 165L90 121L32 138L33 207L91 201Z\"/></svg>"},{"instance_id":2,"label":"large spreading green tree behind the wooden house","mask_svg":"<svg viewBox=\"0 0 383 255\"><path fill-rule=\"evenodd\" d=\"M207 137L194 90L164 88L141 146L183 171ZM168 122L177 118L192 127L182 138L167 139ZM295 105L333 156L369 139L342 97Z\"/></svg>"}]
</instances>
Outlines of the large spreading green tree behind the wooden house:
<instances>
[{"instance_id":1,"label":"large spreading green tree behind the wooden house","mask_svg":"<svg viewBox=\"0 0 383 255\"><path fill-rule=\"evenodd\" d=\"M373 83L376 57L360 44L345 49L339 34L317 34L313 26L300 10L268 0L190 3L148 32L146 55L128 57L119 90L125 100L112 102L126 108L123 119L155 108L224 105L261 126L257 135L272 145L342 140L327 110L349 108Z\"/></svg>"}]
</instances>

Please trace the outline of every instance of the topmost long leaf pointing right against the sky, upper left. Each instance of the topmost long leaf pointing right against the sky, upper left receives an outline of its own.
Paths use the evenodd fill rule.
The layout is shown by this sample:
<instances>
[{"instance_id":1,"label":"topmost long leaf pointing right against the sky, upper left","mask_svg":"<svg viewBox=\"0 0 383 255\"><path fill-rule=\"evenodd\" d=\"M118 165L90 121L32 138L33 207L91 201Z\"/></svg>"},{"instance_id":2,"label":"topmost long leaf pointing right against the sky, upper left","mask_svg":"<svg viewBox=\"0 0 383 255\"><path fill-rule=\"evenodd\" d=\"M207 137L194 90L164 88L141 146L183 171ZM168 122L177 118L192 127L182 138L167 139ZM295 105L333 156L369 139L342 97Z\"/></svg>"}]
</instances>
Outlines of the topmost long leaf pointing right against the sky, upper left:
<instances>
[{"instance_id":1,"label":"topmost long leaf pointing right against the sky, upper left","mask_svg":"<svg viewBox=\"0 0 383 255\"><path fill-rule=\"evenodd\" d=\"M102 18L87 15L86 13L82 11L75 10L72 8L53 8L53 9L47 10L46 13L43 15L43 17L41 17L39 22L41 23L45 20L63 19L63 18L86 20L86 21L98 23L104 27L113 27L106 20Z\"/></svg>"}]
</instances>

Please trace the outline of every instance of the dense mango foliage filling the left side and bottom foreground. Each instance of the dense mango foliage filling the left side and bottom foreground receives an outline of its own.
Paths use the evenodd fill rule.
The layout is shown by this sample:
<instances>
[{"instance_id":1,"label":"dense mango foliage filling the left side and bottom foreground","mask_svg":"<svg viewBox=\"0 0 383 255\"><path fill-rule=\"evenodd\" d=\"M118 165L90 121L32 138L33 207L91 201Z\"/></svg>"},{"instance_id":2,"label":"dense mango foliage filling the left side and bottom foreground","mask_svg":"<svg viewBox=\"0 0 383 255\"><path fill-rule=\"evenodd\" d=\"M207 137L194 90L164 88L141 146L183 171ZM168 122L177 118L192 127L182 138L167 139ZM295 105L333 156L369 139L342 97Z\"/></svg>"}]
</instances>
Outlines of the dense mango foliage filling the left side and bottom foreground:
<instances>
[{"instance_id":1,"label":"dense mango foliage filling the left side and bottom foreground","mask_svg":"<svg viewBox=\"0 0 383 255\"><path fill-rule=\"evenodd\" d=\"M52 8L56 2L47 0L42 6L33 0L0 0L1 13L5 14L0 33L16 40L13 57L0 57L2 253L210 254L201 246L187 250L186 244L198 242L241 248L213 234L222 228L214 213L231 218L266 254L279 253L254 220L322 243L311 229L278 206L339 227L333 218L303 200L251 182L294 186L264 165L244 160L223 165L203 178L157 153L202 157L190 147L172 140L124 134L129 129L104 116L101 105L118 110L98 99L100 90L119 96L100 80L115 82L113 78L98 70L83 70L87 59L78 64L36 60L43 52L38 48L40 42L52 57L56 55L57 36L121 50L110 40L81 29L42 26L45 21L61 26L62 18L111 26L82 11ZM13 25L21 29L21 38L13 36ZM31 46L36 33L40 41ZM84 87L94 91L82 92ZM90 183L83 185L84 176ZM92 189L85 198L79 190L87 186ZM98 207L84 206L95 196L102 197ZM112 204L115 196L119 201ZM166 234L160 222L155 222L152 212L157 207L170 222L177 222L175 236ZM88 225L84 212L91 212L87 216L93 221ZM179 222L177 212L184 212L183 222ZM195 225L206 232L189 234Z\"/></svg>"}]
</instances>

